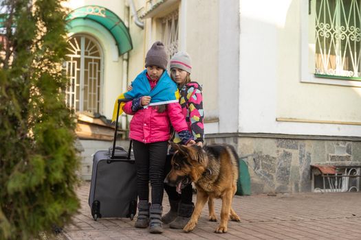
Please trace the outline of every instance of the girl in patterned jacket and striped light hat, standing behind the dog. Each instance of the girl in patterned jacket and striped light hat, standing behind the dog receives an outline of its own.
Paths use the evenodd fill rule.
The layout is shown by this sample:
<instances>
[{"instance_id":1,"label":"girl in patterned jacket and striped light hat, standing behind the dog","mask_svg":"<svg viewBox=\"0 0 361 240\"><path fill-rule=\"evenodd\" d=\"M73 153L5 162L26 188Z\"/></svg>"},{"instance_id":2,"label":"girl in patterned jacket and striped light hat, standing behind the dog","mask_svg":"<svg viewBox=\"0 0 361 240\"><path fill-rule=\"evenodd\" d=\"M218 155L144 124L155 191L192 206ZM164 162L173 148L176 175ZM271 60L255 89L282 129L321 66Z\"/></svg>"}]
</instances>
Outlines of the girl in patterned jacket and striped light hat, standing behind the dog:
<instances>
[{"instance_id":1,"label":"girl in patterned jacket and striped light hat, standing behind the dog","mask_svg":"<svg viewBox=\"0 0 361 240\"><path fill-rule=\"evenodd\" d=\"M203 112L203 97L201 86L197 82L190 81L190 73L192 70L190 64L190 57L188 53L175 53L171 59L171 77L177 83L179 89L179 104L182 106L182 112L188 123L188 129L193 133L193 138L197 145L202 146L204 142L204 112ZM175 143L182 143L181 138L177 132L173 131L171 141ZM166 160L166 174L171 170L171 159L173 150ZM166 175L165 174L165 175ZM170 187L164 184L164 189L168 194L171 210L162 217L164 224L169 224L171 228L181 229L186 226L190 216L194 210L192 202L193 189L192 185L188 184L182 189Z\"/></svg>"}]
</instances>

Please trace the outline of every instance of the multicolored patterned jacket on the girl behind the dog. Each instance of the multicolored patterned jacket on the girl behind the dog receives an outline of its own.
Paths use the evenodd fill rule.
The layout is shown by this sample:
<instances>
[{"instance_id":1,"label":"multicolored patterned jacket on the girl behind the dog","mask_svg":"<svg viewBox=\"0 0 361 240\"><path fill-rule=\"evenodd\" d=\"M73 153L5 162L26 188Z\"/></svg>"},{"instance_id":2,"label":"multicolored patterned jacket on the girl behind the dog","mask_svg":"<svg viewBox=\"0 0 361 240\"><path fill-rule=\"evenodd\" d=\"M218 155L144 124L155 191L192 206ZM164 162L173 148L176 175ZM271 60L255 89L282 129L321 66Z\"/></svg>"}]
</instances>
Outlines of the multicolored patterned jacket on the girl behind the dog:
<instances>
[{"instance_id":1,"label":"multicolored patterned jacket on the girl behind the dog","mask_svg":"<svg viewBox=\"0 0 361 240\"><path fill-rule=\"evenodd\" d=\"M188 130L192 132L196 143L203 143L204 141L204 111L201 91L201 86L197 82L189 82L179 89L179 104L182 107L184 117L186 117ZM171 141L181 142L179 135L174 130Z\"/></svg>"}]
</instances>

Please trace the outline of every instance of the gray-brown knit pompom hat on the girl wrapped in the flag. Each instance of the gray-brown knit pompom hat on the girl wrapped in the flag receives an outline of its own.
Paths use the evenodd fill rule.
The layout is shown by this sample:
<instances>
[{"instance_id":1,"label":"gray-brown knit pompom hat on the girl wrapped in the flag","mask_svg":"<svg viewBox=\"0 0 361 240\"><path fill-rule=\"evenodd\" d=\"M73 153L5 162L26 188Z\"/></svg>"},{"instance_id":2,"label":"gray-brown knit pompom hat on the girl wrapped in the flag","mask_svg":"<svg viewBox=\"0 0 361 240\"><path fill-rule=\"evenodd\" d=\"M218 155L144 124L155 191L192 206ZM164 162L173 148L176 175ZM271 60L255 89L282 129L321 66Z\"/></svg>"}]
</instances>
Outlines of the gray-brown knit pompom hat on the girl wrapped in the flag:
<instances>
[{"instance_id":1,"label":"gray-brown knit pompom hat on the girl wrapped in the flag","mask_svg":"<svg viewBox=\"0 0 361 240\"><path fill-rule=\"evenodd\" d=\"M168 64L168 55L164 49L164 44L160 41L153 43L151 49L146 53L145 67L158 66L166 69Z\"/></svg>"}]
</instances>

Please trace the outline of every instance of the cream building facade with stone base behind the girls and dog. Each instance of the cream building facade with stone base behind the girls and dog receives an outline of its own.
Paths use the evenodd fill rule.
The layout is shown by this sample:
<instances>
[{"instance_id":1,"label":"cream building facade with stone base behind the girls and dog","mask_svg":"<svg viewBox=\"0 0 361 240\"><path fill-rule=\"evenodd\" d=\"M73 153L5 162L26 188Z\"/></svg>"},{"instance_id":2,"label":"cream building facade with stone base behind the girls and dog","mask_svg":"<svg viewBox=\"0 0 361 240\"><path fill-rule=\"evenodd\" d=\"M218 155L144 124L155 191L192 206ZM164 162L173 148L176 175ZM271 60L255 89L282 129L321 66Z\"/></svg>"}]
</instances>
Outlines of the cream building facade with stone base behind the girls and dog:
<instances>
[{"instance_id":1,"label":"cream building facade with stone base behind the girls and dog","mask_svg":"<svg viewBox=\"0 0 361 240\"><path fill-rule=\"evenodd\" d=\"M79 89L69 89L69 106L110 119L116 97L144 69L146 51L162 40L170 57L190 54L191 78L203 85L206 143L237 147L252 193L312 191L320 179L312 180L311 165L360 175L359 4L69 1L67 68ZM122 116L122 128L128 121ZM98 142L86 141L95 141L89 155ZM331 178L325 191L360 187L360 178L340 179L343 187Z\"/></svg>"}]
</instances>

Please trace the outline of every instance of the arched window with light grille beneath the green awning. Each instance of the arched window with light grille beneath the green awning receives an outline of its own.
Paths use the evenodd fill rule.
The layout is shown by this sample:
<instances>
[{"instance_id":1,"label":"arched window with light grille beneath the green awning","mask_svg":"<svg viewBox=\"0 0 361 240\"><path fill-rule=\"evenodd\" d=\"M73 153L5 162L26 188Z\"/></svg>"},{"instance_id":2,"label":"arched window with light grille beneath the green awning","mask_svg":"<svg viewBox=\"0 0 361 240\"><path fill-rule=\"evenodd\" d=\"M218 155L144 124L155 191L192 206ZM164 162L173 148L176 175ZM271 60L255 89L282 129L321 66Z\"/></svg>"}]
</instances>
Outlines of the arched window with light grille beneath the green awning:
<instances>
[{"instance_id":1,"label":"arched window with light grille beneath the green awning","mask_svg":"<svg viewBox=\"0 0 361 240\"><path fill-rule=\"evenodd\" d=\"M67 88L67 106L76 111L100 112L102 94L102 53L90 36L69 38L66 72L70 80Z\"/></svg>"}]
</instances>

